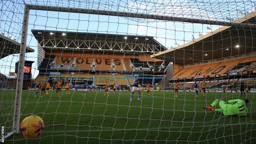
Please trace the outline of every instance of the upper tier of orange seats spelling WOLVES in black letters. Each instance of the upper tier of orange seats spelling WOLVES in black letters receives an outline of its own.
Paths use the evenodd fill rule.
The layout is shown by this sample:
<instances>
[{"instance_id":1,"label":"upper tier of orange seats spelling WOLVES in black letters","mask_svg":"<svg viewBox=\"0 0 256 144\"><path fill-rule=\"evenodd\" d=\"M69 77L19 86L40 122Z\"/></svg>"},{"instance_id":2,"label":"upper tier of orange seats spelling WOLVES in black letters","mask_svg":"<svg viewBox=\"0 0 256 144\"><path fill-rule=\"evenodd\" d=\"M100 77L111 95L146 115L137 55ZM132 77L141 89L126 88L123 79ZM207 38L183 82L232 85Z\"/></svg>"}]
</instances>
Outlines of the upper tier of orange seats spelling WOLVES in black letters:
<instances>
[{"instance_id":1,"label":"upper tier of orange seats spelling WOLVES in black letters","mask_svg":"<svg viewBox=\"0 0 256 144\"><path fill-rule=\"evenodd\" d=\"M96 71L113 71L114 69L115 71L125 71L124 66L126 71L133 71L133 69L130 68L130 59L122 58L123 56L121 55L107 57L107 55L51 54L51 56L46 55L43 62L40 64L39 69L74 69L83 71L93 70L94 65ZM137 61L139 62L138 59ZM146 62L144 62L144 65L149 68Z\"/></svg>"}]
</instances>

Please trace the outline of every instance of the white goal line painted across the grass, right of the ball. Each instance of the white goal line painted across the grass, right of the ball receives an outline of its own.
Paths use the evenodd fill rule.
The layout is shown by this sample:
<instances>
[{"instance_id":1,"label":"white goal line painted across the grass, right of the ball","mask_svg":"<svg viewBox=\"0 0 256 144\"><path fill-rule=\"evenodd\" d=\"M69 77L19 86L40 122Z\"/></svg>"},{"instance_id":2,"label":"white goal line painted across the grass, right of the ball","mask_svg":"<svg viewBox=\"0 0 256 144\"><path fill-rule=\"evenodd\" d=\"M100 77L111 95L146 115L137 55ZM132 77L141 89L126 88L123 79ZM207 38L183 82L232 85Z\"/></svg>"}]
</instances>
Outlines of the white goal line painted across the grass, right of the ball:
<instances>
[{"instance_id":1,"label":"white goal line painted across the grass, right of the ball","mask_svg":"<svg viewBox=\"0 0 256 144\"><path fill-rule=\"evenodd\" d=\"M73 133L73 132L108 132L108 131L130 131L130 130L161 130L161 129L175 129L175 128L204 128L204 127L216 127L216 126L235 126L235 125L253 125L256 123L234 123L234 124L217 124L217 125L205 125L205 126L173 126L173 127L161 127L161 128L129 128L129 129L103 129L103 130L55 130L55 131L43 131L43 133Z\"/></svg>"}]
</instances>

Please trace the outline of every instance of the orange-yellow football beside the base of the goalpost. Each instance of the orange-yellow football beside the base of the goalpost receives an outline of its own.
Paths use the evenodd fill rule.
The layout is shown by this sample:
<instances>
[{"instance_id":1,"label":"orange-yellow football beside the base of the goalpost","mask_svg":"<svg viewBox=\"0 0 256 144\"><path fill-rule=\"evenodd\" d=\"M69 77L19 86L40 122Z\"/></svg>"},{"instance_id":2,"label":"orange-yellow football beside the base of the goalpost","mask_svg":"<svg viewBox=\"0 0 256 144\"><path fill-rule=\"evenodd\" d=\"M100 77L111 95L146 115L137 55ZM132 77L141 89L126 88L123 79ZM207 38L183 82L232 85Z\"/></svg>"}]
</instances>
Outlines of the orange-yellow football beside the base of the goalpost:
<instances>
[{"instance_id":1,"label":"orange-yellow football beside the base of the goalpost","mask_svg":"<svg viewBox=\"0 0 256 144\"><path fill-rule=\"evenodd\" d=\"M25 138L38 137L43 132L43 128L44 128L43 119L41 119L41 117L38 117L36 115L32 115L23 119L20 127L21 134Z\"/></svg>"}]
</instances>

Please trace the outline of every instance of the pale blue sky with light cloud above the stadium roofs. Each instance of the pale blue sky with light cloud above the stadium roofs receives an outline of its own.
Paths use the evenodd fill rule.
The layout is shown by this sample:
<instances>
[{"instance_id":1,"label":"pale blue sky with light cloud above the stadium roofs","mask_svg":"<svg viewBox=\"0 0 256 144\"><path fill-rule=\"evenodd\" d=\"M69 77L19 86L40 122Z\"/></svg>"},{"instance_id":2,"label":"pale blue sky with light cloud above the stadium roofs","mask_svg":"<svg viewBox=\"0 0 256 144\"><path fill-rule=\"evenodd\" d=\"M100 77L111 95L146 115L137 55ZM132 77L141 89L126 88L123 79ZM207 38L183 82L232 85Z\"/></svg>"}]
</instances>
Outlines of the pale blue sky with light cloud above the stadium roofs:
<instances>
[{"instance_id":1,"label":"pale blue sky with light cloud above the stadium roofs","mask_svg":"<svg viewBox=\"0 0 256 144\"><path fill-rule=\"evenodd\" d=\"M255 4L251 1L160 1L160 0L113 0L85 2L73 0L45 0L30 1L27 4L51 5L59 7L79 7L87 9L101 9L109 11L126 11L142 14L156 14L165 16L177 16L183 18L211 19L219 21L233 21L245 16L255 9ZM20 3L23 3L22 1ZM20 31L22 13L24 7L19 2L1 2L0 31L5 36L14 37L20 42ZM30 10L27 45L35 50L34 53L27 53L26 60L34 61L32 77L38 75L37 68L37 41L31 30L52 30L65 32L95 32L108 34L127 34L152 36L166 48L174 48L178 45L192 41L200 34L206 34L219 28L219 25L202 25L192 23L182 23L173 21L156 21L138 18L123 18L117 16L101 16L93 14L79 14L55 11ZM18 55L10 55L0 59L1 73L8 75L14 72Z\"/></svg>"}]
</instances>

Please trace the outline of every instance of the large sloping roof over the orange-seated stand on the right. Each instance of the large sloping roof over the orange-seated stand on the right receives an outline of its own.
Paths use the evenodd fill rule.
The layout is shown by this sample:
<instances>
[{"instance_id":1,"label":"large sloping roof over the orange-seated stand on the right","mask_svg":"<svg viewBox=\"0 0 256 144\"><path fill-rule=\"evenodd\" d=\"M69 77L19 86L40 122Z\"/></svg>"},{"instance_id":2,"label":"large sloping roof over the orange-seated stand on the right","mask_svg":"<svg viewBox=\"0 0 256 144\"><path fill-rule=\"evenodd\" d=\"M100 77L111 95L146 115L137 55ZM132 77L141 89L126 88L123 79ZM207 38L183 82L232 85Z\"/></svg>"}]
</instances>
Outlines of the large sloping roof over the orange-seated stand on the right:
<instances>
[{"instance_id":1,"label":"large sloping roof over the orange-seated stand on the right","mask_svg":"<svg viewBox=\"0 0 256 144\"><path fill-rule=\"evenodd\" d=\"M256 23L256 11L238 19L236 23ZM194 64L256 51L256 30L223 26L184 45L151 55L175 64Z\"/></svg>"}]
</instances>

